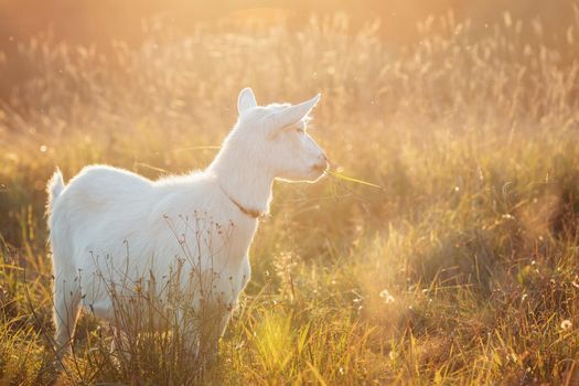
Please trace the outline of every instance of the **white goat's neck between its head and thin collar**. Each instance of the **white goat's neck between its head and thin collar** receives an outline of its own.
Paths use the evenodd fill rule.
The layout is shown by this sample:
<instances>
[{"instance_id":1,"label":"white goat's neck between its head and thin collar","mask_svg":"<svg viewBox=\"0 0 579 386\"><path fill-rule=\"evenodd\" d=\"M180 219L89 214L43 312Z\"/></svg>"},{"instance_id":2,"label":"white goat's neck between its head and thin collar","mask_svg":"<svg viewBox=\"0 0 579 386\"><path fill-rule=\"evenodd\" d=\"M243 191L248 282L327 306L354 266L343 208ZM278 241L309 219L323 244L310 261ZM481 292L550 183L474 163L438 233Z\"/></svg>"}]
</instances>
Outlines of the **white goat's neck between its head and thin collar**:
<instances>
[{"instance_id":1,"label":"white goat's neck between its head and thin collar","mask_svg":"<svg viewBox=\"0 0 579 386\"><path fill-rule=\"evenodd\" d=\"M267 214L274 176L251 157L223 149L207 171L235 203L249 211Z\"/></svg>"}]
</instances>

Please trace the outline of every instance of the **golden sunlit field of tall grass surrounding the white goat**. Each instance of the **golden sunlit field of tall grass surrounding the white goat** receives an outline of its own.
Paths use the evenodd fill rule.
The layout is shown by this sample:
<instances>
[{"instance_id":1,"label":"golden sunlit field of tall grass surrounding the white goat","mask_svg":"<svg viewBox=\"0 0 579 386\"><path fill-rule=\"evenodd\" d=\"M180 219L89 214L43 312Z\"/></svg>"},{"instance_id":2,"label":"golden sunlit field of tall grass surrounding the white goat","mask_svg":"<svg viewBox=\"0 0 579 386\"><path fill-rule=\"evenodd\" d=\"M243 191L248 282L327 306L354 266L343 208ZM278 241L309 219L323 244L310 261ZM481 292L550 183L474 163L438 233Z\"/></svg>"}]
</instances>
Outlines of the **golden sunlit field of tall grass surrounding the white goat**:
<instances>
[{"instance_id":1,"label":"golden sunlit field of tall grass surrounding the white goat","mask_svg":"<svg viewBox=\"0 0 579 386\"><path fill-rule=\"evenodd\" d=\"M138 46L40 35L0 55L34 74L0 99L0 385L579 383L575 12L555 34L437 15L404 46L340 14L151 21ZM310 129L337 175L276 184L217 360L146 336L114 361L85 314L57 373L47 179L202 169L248 85L262 103L322 93Z\"/></svg>"}]
</instances>

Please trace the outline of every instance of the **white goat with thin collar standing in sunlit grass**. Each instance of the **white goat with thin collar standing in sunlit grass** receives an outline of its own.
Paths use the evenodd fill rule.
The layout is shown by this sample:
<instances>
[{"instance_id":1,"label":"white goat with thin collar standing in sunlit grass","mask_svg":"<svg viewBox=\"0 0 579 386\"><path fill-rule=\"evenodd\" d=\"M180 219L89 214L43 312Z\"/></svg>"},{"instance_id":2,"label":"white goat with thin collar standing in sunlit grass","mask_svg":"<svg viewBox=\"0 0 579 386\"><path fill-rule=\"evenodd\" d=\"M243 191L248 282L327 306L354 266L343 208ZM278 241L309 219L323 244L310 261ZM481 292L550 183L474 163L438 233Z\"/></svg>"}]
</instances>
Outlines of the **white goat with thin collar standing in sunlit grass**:
<instances>
[{"instance_id":1,"label":"white goat with thin collar standing in sunlit grass","mask_svg":"<svg viewBox=\"0 0 579 386\"><path fill-rule=\"evenodd\" d=\"M114 322L114 301L104 280L162 278L179 261L202 274L179 282L195 285L208 272L214 280L210 301L227 304L206 336L216 343L249 280L248 249L259 217L268 213L274 180L314 182L328 167L324 152L304 130L319 99L262 107L250 88L243 89L237 124L201 172L150 181L90 165L65 186L56 171L47 184L47 213L61 355L69 349L81 305ZM200 215L204 221L193 219ZM184 244L195 250L193 259L183 256ZM200 307L199 298L193 309ZM194 339L199 344L199 336Z\"/></svg>"}]
</instances>

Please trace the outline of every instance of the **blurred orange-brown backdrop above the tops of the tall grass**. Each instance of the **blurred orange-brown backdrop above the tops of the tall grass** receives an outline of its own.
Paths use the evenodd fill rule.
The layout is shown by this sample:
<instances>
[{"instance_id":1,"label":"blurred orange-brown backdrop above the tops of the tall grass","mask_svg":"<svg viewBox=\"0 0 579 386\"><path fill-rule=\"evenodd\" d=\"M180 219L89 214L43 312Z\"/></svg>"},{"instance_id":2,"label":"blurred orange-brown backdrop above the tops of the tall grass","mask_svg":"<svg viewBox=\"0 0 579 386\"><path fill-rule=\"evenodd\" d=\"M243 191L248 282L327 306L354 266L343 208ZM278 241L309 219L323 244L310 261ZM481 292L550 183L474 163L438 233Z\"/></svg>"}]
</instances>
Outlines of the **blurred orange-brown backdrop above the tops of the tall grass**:
<instances>
[{"instance_id":1,"label":"blurred orange-brown backdrop above the tops of the tall grass","mask_svg":"<svg viewBox=\"0 0 579 386\"><path fill-rule=\"evenodd\" d=\"M380 20L378 34L384 42L407 44L419 39L417 25L429 15L452 12L455 20L470 20L471 33L484 30L504 19L524 21L525 29L540 20L544 40L558 39L561 29L573 19L570 0L320 0L320 1L205 1L184 0L0 0L0 51L12 56L19 42L39 34L55 41L96 46L109 52L112 40L138 46L154 20L184 34L193 33L200 23L230 22L254 25L283 25L297 31L309 23L312 14L341 13L352 30L368 21ZM523 33L523 36L529 34ZM0 96L30 75L20 63L3 68Z\"/></svg>"}]
</instances>

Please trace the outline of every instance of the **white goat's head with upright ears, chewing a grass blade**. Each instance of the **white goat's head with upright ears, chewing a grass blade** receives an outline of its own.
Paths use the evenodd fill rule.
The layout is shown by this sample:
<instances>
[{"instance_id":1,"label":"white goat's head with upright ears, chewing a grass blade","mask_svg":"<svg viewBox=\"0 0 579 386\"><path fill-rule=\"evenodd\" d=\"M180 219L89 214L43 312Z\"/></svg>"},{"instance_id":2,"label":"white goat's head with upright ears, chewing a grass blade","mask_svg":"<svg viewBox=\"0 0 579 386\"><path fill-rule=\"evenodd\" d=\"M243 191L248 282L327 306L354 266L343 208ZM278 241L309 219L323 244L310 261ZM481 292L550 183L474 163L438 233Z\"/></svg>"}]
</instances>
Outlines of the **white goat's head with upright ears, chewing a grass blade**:
<instances>
[{"instance_id":1,"label":"white goat's head with upright ears, chewing a grass blade","mask_svg":"<svg viewBox=\"0 0 579 386\"><path fill-rule=\"evenodd\" d=\"M313 182L328 168L323 150L305 131L308 115L319 100L318 94L298 105L258 106L254 92L244 88L237 100L239 121L235 136L243 139L248 156L275 178Z\"/></svg>"}]
</instances>

